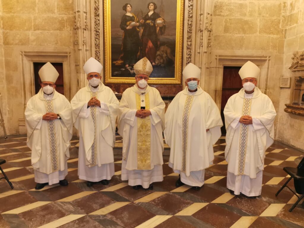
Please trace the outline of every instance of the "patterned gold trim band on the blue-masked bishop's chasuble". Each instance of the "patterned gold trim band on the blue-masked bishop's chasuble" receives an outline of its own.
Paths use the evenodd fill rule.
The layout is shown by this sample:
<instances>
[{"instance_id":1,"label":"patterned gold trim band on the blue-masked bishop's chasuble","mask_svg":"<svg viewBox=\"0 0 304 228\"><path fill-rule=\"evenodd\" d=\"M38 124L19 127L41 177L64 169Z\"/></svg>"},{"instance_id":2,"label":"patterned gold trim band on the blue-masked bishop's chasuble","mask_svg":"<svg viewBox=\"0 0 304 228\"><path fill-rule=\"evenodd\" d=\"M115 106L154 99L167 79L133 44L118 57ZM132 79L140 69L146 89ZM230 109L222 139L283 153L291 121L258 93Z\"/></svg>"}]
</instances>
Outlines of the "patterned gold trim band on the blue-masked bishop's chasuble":
<instances>
[{"instance_id":1,"label":"patterned gold trim band on the blue-masked bishop's chasuble","mask_svg":"<svg viewBox=\"0 0 304 228\"><path fill-rule=\"evenodd\" d=\"M183 126L182 126L182 149L183 149L183 155L182 155L182 164L181 164L181 171L186 172L186 155L187 155L187 141L188 141L188 123L189 123L189 114L190 109L193 101L193 95L187 95L185 106L184 106L184 112L183 112Z\"/></svg>"}]
</instances>

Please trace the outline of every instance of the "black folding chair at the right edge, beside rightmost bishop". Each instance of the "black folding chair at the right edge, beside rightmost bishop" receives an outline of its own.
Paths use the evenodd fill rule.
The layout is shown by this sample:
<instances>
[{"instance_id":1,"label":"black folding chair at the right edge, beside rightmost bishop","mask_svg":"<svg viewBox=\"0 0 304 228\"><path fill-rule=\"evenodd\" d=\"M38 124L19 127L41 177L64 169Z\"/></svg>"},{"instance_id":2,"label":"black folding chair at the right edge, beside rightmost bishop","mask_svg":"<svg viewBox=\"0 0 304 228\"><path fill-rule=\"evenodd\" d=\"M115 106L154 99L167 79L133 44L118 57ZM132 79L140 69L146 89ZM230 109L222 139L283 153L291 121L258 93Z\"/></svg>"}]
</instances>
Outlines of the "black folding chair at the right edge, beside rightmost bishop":
<instances>
[{"instance_id":1,"label":"black folding chair at the right edge, beside rightmost bishop","mask_svg":"<svg viewBox=\"0 0 304 228\"><path fill-rule=\"evenodd\" d=\"M295 208L295 206L297 206L297 204L301 201L301 199L304 198L304 157L300 161L297 168L284 167L283 170L290 175L290 178L288 179L288 181L286 181L282 188L280 188L280 190L275 194L275 196L278 196L278 194L283 190L283 188L289 188L287 184L293 178L296 193L291 188L289 188L289 190L292 191L292 193L295 194L296 197L298 197L298 200L289 209L289 212L291 212ZM301 196L298 196L297 193Z\"/></svg>"}]
</instances>

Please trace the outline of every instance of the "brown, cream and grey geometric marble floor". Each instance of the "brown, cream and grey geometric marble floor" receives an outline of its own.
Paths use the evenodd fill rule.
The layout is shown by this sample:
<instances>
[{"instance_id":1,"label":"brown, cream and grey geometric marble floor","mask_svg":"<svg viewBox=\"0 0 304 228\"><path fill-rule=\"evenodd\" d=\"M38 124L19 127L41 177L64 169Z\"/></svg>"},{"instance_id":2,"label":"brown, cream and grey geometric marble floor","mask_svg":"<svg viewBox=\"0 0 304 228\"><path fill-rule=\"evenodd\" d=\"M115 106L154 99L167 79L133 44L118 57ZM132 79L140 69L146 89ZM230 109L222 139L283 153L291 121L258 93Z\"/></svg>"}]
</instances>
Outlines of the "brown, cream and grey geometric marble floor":
<instances>
[{"instance_id":1,"label":"brown, cream and grey geometric marble floor","mask_svg":"<svg viewBox=\"0 0 304 228\"><path fill-rule=\"evenodd\" d=\"M262 194L256 199L230 195L227 190L224 137L214 145L214 165L206 169L205 184L199 191L188 185L175 187L178 176L168 167L168 156L164 156L164 181L154 183L153 190L134 190L120 180L119 155L115 155L116 172L109 185L87 187L77 175L77 143L77 138L71 141L69 185L47 185L37 191L26 136L0 139L0 159L7 161L1 167L14 185L11 190L0 180L1 228L304 227L304 203L288 212L296 197L286 188L275 196L288 179L283 167L296 167L303 156L282 143L267 150Z\"/></svg>"}]
</instances>

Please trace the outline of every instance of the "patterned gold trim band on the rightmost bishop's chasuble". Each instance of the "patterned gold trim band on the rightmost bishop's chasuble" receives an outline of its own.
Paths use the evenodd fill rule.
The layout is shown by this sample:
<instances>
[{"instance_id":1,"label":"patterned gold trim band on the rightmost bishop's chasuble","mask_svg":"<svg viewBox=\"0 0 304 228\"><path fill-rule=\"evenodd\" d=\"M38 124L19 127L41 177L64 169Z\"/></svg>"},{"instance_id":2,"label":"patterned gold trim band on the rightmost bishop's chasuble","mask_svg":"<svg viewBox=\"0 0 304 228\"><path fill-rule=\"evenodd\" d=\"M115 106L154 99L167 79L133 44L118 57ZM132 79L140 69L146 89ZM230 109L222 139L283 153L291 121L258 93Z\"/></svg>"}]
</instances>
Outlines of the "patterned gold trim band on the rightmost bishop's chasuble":
<instances>
[{"instance_id":1,"label":"patterned gold trim band on the rightmost bishop's chasuble","mask_svg":"<svg viewBox=\"0 0 304 228\"><path fill-rule=\"evenodd\" d=\"M251 107L251 98L245 98L243 104L243 116L249 116ZM240 149L239 149L239 168L238 174L244 174L245 158L247 150L247 139L248 139L248 124L241 124L240 127Z\"/></svg>"}]
</instances>

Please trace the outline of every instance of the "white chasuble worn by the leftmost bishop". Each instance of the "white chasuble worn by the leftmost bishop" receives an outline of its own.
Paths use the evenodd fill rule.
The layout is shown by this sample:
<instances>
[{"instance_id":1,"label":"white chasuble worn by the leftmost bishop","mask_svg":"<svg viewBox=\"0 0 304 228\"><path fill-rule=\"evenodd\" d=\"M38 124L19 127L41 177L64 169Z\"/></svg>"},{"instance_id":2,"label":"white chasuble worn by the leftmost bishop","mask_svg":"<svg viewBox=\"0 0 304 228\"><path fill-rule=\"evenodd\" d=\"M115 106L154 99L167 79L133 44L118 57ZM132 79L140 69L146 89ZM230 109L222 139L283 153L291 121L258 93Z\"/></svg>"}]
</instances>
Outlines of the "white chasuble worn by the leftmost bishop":
<instances>
[{"instance_id":1,"label":"white chasuble worn by the leftmost bishop","mask_svg":"<svg viewBox=\"0 0 304 228\"><path fill-rule=\"evenodd\" d=\"M67 98L56 91L45 99L43 90L40 89L27 102L27 146L32 150L32 166L35 171L51 174L66 169L73 130L71 111ZM60 119L43 120L42 116L47 112L59 114Z\"/></svg>"}]
</instances>

